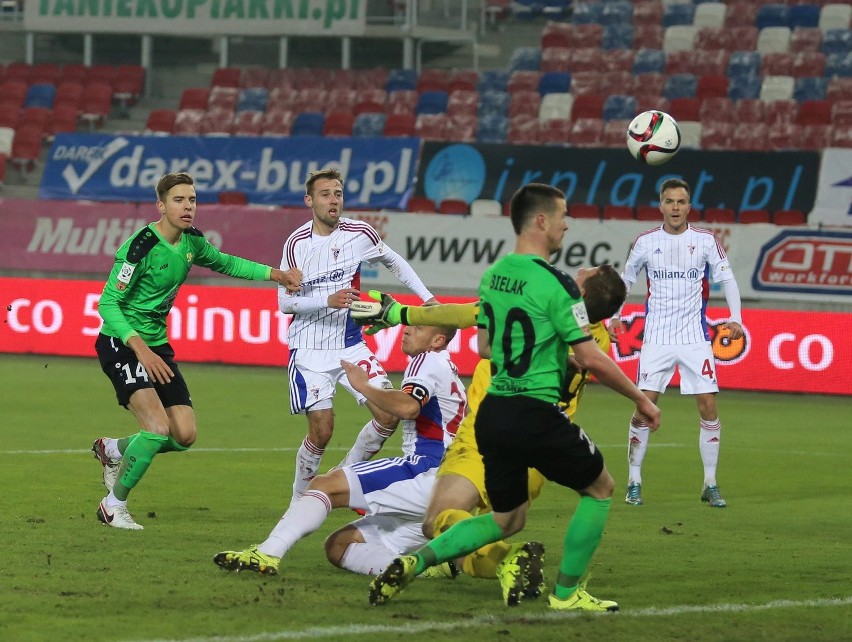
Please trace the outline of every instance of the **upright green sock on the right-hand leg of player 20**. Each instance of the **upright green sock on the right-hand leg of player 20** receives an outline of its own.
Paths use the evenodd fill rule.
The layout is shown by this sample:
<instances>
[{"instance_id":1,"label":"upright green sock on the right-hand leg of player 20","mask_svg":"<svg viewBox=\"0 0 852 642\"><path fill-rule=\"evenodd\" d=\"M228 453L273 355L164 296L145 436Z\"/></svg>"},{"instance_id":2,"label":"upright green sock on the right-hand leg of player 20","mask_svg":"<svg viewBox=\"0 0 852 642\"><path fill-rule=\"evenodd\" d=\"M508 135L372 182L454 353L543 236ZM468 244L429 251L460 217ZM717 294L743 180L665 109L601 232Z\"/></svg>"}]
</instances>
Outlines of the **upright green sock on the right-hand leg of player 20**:
<instances>
[{"instance_id":1,"label":"upright green sock on the right-hand leg of player 20","mask_svg":"<svg viewBox=\"0 0 852 642\"><path fill-rule=\"evenodd\" d=\"M610 498L581 497L574 517L565 533L562 563L556 578L556 597L564 600L573 593L592 561L592 555L603 537L609 516Z\"/></svg>"}]
</instances>

